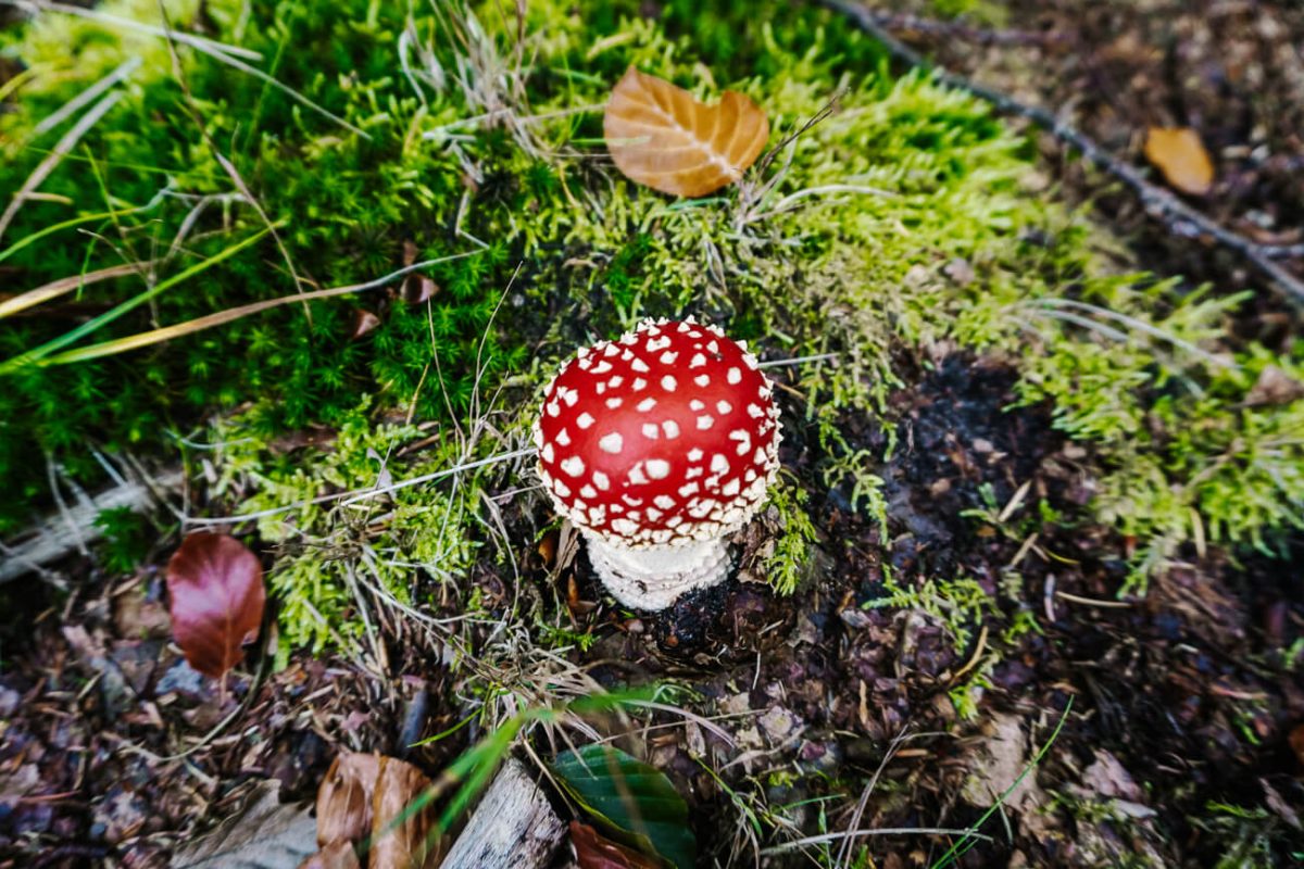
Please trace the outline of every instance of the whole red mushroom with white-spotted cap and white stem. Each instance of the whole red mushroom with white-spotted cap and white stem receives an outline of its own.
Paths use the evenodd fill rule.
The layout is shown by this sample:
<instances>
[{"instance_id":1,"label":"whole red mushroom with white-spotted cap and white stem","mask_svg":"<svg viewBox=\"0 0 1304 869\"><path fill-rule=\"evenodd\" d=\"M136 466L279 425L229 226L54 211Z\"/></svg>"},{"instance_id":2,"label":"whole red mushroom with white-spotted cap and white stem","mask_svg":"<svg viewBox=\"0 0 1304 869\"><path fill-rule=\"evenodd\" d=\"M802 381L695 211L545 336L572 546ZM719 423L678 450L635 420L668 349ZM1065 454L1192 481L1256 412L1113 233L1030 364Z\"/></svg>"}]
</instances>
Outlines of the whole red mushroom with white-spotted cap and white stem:
<instances>
[{"instance_id":1,"label":"whole red mushroom with white-spotted cap and white stem","mask_svg":"<svg viewBox=\"0 0 1304 869\"><path fill-rule=\"evenodd\" d=\"M726 538L778 472L778 408L742 343L643 321L580 349L544 392L539 474L623 605L662 610L729 575Z\"/></svg>"}]
</instances>

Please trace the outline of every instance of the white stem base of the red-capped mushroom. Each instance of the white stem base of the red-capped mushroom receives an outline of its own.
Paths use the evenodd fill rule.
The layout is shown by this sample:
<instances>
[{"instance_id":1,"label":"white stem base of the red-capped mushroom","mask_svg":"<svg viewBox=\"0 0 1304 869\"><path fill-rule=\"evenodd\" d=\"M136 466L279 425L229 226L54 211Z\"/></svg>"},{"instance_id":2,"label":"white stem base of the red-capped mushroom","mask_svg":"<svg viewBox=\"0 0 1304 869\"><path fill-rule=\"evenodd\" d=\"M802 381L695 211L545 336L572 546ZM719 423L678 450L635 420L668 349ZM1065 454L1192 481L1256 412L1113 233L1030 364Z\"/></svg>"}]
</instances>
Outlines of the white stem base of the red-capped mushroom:
<instances>
[{"instance_id":1,"label":"white stem base of the red-capped mushroom","mask_svg":"<svg viewBox=\"0 0 1304 869\"><path fill-rule=\"evenodd\" d=\"M583 532L588 560L612 595L635 610L664 610L679 595L724 582L732 567L724 539L634 550Z\"/></svg>"}]
</instances>

